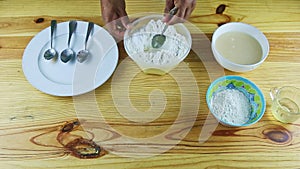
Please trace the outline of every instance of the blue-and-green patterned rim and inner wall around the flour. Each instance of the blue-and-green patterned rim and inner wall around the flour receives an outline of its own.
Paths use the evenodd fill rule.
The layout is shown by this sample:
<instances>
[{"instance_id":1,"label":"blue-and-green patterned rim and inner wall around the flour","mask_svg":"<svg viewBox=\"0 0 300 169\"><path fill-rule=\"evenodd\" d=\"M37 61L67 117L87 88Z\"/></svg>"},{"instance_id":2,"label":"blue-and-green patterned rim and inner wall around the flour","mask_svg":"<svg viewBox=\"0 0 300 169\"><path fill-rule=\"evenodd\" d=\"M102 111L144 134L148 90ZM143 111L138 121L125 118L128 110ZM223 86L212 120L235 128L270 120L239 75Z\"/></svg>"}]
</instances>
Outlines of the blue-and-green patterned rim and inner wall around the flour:
<instances>
[{"instance_id":1,"label":"blue-and-green patterned rim and inner wall around the flour","mask_svg":"<svg viewBox=\"0 0 300 169\"><path fill-rule=\"evenodd\" d=\"M206 103L210 110L211 98L216 93L226 89L239 90L249 99L251 104L250 119L247 123L242 125L221 122L219 119L218 121L226 126L240 127L254 124L262 118L266 110L266 101L263 93L253 82L240 76L223 76L211 83L206 93ZM212 112L212 114L214 113Z\"/></svg>"}]
</instances>

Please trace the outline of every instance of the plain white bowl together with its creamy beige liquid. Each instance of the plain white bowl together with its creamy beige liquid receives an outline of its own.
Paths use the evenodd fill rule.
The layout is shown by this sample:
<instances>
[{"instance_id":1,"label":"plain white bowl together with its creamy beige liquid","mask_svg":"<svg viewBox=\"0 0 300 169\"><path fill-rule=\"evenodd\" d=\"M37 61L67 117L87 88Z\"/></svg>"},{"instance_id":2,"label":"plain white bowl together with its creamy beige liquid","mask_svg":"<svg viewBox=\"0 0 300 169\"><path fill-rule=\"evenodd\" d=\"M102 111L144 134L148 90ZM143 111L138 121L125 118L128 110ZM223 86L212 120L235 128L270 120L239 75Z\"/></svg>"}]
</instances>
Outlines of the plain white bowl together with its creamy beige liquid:
<instances>
[{"instance_id":1,"label":"plain white bowl together with its creamy beige liquid","mask_svg":"<svg viewBox=\"0 0 300 169\"><path fill-rule=\"evenodd\" d=\"M234 72L257 68L269 54L266 36L257 28L241 22L220 26L213 33L211 48L217 62Z\"/></svg>"}]
</instances>

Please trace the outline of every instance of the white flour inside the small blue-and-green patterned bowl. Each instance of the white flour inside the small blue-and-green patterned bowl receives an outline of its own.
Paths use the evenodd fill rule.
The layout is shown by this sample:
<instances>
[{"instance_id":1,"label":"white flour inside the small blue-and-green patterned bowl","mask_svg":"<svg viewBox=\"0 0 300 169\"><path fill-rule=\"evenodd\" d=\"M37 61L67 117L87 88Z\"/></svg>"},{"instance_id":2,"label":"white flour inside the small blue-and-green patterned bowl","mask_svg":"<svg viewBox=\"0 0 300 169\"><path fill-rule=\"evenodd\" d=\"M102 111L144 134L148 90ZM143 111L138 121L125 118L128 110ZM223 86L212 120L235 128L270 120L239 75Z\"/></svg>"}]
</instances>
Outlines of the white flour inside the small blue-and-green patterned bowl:
<instances>
[{"instance_id":1,"label":"white flour inside the small blue-and-green patterned bowl","mask_svg":"<svg viewBox=\"0 0 300 169\"><path fill-rule=\"evenodd\" d=\"M236 89L216 93L211 99L212 111L222 121L230 124L245 124L251 113L247 97Z\"/></svg>"}]
</instances>

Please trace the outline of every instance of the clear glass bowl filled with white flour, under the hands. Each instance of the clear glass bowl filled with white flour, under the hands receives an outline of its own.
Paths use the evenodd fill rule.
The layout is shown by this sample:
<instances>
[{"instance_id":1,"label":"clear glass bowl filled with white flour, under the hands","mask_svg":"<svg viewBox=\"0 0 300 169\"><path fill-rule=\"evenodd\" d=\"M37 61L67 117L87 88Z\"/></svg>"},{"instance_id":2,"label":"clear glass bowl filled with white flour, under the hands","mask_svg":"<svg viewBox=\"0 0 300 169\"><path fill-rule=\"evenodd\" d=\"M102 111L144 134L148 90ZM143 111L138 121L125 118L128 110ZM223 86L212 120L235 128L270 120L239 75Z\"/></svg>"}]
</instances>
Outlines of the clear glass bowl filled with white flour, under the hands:
<instances>
[{"instance_id":1,"label":"clear glass bowl filled with white flour, under the hands","mask_svg":"<svg viewBox=\"0 0 300 169\"><path fill-rule=\"evenodd\" d=\"M143 16L125 31L125 51L144 73L168 73L187 57L191 49L192 38L183 23L169 25L161 48L151 46L153 36L161 34L165 25L162 18L156 14Z\"/></svg>"}]
</instances>

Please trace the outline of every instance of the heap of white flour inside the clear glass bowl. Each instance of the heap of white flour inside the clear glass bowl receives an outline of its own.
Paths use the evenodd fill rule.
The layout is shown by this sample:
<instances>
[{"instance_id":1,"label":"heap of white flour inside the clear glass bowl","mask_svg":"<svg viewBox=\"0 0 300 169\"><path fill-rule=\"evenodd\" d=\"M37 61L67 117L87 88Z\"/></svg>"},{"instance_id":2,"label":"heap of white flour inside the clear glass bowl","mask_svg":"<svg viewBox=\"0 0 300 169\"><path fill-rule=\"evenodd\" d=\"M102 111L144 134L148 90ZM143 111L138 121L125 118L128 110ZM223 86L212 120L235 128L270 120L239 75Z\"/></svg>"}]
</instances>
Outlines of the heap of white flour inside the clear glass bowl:
<instances>
[{"instance_id":1,"label":"heap of white flour inside the clear glass bowl","mask_svg":"<svg viewBox=\"0 0 300 169\"><path fill-rule=\"evenodd\" d=\"M133 53L132 57L155 65L168 64L183 57L189 50L188 42L183 35L176 32L175 27L172 25L168 26L164 33L166 36L164 45L159 50L152 48L153 36L160 34L164 25L165 23L161 20L151 20L146 26L126 39L128 50Z\"/></svg>"}]
</instances>

